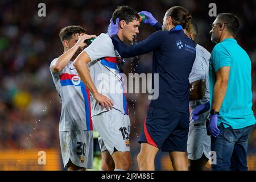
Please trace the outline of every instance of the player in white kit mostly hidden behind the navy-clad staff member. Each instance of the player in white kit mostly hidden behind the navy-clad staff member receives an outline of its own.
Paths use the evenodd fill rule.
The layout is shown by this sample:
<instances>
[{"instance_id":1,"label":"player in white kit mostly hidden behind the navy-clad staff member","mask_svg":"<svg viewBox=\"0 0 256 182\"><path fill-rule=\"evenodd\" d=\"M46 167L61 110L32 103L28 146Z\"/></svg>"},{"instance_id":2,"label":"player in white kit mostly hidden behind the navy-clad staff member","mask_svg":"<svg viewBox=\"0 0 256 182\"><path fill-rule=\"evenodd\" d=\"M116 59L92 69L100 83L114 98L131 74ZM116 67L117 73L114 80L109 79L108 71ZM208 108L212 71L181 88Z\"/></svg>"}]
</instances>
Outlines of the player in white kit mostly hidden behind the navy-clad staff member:
<instances>
[{"instance_id":1,"label":"player in white kit mostly hidden behind the navy-clad staff member","mask_svg":"<svg viewBox=\"0 0 256 182\"><path fill-rule=\"evenodd\" d=\"M197 35L197 26L191 22L191 32L188 34L195 40ZM196 59L193 63L192 71L189 75L189 82L192 85L189 94L190 124L188 133L188 159L189 170L204 170L210 158L210 136L207 135L205 126L209 115L209 109L197 116L197 121L192 118L192 113L196 106L209 104L209 59L210 53L204 47L196 44Z\"/></svg>"}]
</instances>

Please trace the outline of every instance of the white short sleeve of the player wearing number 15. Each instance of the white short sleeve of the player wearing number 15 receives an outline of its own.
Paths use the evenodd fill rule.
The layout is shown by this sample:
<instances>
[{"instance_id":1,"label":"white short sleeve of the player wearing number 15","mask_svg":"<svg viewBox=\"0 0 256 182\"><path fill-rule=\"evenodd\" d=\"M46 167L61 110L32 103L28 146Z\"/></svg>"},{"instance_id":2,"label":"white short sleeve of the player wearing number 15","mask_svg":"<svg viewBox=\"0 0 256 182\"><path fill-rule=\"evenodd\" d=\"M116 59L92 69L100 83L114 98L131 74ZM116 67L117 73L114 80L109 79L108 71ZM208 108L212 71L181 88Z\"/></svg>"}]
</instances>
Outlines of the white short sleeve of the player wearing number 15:
<instances>
[{"instance_id":1,"label":"white short sleeve of the player wearing number 15","mask_svg":"<svg viewBox=\"0 0 256 182\"><path fill-rule=\"evenodd\" d=\"M114 46L108 34L101 34L84 49L91 61L102 57L114 57Z\"/></svg>"}]
</instances>

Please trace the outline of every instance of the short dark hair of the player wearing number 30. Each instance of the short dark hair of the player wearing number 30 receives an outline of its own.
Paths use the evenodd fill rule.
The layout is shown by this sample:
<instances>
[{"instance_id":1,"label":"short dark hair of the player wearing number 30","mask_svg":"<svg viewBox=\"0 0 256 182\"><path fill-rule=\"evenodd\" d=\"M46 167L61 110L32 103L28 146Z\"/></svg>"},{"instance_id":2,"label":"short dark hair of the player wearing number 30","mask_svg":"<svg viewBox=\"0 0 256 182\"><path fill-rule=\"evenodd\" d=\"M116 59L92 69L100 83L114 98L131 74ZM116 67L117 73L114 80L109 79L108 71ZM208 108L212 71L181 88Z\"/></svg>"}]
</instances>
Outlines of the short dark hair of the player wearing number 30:
<instances>
[{"instance_id":1,"label":"short dark hair of the player wearing number 30","mask_svg":"<svg viewBox=\"0 0 256 182\"><path fill-rule=\"evenodd\" d=\"M63 42L63 40L70 40L72 39L72 36L74 34L81 34L81 33L85 33L85 29L82 28L79 25L72 25L72 26L68 26L68 27L64 27L60 30L60 40L61 42Z\"/></svg>"}]
</instances>

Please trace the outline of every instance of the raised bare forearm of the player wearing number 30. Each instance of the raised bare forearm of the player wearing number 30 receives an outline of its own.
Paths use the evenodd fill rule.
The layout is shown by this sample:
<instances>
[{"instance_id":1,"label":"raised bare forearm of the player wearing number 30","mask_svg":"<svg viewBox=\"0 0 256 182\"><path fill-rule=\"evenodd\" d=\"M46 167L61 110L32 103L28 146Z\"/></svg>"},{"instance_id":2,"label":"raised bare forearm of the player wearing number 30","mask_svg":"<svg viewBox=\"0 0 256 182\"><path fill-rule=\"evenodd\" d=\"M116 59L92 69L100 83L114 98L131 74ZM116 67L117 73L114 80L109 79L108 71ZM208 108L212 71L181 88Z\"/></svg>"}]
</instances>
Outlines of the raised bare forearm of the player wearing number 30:
<instances>
[{"instance_id":1,"label":"raised bare forearm of the player wearing number 30","mask_svg":"<svg viewBox=\"0 0 256 182\"><path fill-rule=\"evenodd\" d=\"M79 46L75 45L71 49L69 49L67 52L64 52L60 57L58 57L57 61L52 66L52 71L53 72L62 71L63 68L67 66L68 61L70 61L73 55L75 55L78 48Z\"/></svg>"}]
</instances>

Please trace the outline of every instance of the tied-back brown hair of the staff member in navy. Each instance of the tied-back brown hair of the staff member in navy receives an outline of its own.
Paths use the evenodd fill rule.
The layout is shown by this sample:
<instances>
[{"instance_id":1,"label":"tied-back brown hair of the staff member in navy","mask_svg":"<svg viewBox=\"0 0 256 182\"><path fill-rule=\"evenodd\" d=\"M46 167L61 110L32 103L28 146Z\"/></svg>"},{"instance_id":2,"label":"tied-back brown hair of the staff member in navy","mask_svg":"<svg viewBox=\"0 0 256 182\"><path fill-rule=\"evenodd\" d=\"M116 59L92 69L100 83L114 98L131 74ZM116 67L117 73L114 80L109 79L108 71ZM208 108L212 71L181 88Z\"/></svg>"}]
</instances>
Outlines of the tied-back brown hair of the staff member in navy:
<instances>
[{"instance_id":1,"label":"tied-back brown hair of the staff member in navy","mask_svg":"<svg viewBox=\"0 0 256 182\"><path fill-rule=\"evenodd\" d=\"M191 29L191 14L188 13L184 7L174 6L167 10L166 17L172 17L172 24L174 26L180 24L184 29L190 32Z\"/></svg>"}]
</instances>

